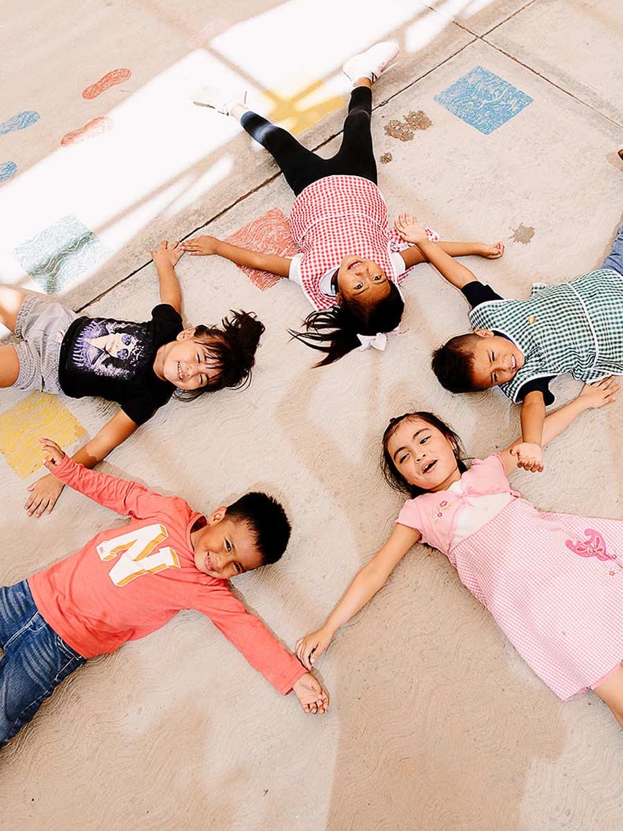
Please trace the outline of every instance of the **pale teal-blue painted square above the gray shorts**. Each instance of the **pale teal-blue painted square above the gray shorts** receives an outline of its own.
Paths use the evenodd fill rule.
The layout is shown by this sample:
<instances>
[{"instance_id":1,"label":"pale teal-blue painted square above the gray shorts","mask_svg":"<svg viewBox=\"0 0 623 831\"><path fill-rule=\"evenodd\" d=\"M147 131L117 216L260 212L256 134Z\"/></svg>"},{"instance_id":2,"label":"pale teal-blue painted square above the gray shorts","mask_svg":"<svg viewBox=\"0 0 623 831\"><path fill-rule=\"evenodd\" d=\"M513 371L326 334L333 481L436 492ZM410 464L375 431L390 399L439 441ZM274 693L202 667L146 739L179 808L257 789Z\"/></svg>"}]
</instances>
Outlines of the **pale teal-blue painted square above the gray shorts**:
<instances>
[{"instance_id":1,"label":"pale teal-blue painted square above the gray shorts","mask_svg":"<svg viewBox=\"0 0 623 831\"><path fill-rule=\"evenodd\" d=\"M15 249L25 272L52 294L102 263L108 248L75 216L64 216Z\"/></svg>"}]
</instances>

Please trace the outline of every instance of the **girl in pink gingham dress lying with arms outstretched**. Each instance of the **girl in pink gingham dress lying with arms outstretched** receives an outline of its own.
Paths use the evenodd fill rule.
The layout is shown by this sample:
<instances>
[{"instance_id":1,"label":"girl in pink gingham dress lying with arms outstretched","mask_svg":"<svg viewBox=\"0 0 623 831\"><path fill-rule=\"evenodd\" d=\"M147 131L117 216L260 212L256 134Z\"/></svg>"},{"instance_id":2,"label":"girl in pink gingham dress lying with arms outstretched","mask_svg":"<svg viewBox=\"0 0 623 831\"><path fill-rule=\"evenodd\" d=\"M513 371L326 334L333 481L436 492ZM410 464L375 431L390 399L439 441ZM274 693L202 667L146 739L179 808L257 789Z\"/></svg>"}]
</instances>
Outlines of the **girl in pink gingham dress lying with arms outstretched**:
<instances>
[{"instance_id":1,"label":"girl in pink gingham dress lying with arms outstretched","mask_svg":"<svg viewBox=\"0 0 623 831\"><path fill-rule=\"evenodd\" d=\"M614 400L611 378L545 420L544 440ZM431 413L392 419L385 478L410 494L395 530L316 632L297 642L310 667L336 630L417 542L438 548L532 670L566 701L591 688L623 726L623 522L538 511L508 483L517 445L467 468L458 436Z\"/></svg>"}]
</instances>

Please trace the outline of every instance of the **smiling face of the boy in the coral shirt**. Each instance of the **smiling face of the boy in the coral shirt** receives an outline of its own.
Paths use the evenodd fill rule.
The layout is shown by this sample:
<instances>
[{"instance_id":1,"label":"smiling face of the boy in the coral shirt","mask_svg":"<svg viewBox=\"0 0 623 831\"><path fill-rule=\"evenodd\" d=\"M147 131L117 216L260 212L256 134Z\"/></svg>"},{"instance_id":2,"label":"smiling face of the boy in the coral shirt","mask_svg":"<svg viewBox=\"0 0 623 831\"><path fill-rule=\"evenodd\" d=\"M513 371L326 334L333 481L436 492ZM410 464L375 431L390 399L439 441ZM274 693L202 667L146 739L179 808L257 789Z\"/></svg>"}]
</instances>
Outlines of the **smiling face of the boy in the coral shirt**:
<instances>
[{"instance_id":1,"label":"smiling face of the boy in the coral shirt","mask_svg":"<svg viewBox=\"0 0 623 831\"><path fill-rule=\"evenodd\" d=\"M190 534L194 564L200 572L228 580L263 564L247 522L230 519L226 508L216 509L207 520L207 525Z\"/></svg>"}]
</instances>

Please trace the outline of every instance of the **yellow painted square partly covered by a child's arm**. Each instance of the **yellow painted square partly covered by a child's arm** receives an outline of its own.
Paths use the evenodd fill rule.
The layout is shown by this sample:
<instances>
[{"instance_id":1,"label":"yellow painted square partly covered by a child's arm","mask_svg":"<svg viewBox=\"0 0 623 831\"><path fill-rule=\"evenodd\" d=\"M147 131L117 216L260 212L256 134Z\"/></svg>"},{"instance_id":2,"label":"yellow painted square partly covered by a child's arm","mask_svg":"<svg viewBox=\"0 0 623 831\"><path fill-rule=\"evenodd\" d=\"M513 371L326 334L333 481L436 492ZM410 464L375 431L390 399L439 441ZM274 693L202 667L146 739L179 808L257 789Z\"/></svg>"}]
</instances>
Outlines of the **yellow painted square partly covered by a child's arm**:
<instances>
[{"instance_id":1,"label":"yellow painted square partly covered by a child's arm","mask_svg":"<svg viewBox=\"0 0 623 831\"><path fill-rule=\"evenodd\" d=\"M66 447L84 432L56 396L32 392L0 414L0 451L19 478L26 479L42 466L42 436Z\"/></svg>"}]
</instances>

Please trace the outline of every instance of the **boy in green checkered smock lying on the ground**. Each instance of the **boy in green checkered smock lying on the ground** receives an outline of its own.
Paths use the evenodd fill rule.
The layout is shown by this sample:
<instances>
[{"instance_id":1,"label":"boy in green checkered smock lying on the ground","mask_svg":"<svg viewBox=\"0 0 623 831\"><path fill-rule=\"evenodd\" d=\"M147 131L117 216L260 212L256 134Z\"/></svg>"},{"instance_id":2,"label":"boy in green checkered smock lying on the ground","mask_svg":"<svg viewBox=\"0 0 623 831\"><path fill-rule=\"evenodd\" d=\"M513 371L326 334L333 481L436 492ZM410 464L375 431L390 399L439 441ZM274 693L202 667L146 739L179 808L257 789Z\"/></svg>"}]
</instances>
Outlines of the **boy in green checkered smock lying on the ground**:
<instances>
[{"instance_id":1,"label":"boy in green checkered smock lying on the ground","mask_svg":"<svg viewBox=\"0 0 623 831\"><path fill-rule=\"evenodd\" d=\"M543 420L554 401L550 381L564 372L585 384L623 374L623 223L601 268L571 283L535 284L524 300L504 299L480 283L429 242L415 217L400 214L395 225L472 306L473 333L435 350L435 375L451 392L499 386L522 402L518 466L543 470Z\"/></svg>"}]
</instances>

